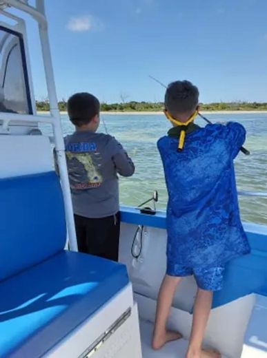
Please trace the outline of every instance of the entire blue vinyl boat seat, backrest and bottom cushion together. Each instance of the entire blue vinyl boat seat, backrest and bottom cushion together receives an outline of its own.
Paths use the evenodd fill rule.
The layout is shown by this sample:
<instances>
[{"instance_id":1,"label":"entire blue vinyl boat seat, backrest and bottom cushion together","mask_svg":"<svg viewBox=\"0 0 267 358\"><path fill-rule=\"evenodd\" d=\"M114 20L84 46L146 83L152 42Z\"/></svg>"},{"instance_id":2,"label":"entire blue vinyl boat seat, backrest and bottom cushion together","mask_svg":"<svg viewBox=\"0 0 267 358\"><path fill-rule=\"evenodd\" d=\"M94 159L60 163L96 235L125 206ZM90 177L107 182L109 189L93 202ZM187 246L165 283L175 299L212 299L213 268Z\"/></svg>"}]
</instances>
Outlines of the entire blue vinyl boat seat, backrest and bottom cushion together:
<instances>
[{"instance_id":1,"label":"entire blue vinyl boat seat, backrest and bottom cushion together","mask_svg":"<svg viewBox=\"0 0 267 358\"><path fill-rule=\"evenodd\" d=\"M64 251L54 171L0 179L0 357L41 357L128 284L126 267Z\"/></svg>"}]
</instances>

